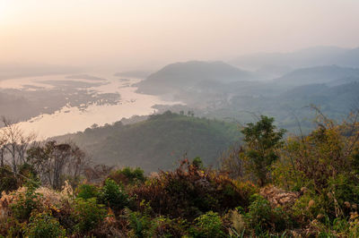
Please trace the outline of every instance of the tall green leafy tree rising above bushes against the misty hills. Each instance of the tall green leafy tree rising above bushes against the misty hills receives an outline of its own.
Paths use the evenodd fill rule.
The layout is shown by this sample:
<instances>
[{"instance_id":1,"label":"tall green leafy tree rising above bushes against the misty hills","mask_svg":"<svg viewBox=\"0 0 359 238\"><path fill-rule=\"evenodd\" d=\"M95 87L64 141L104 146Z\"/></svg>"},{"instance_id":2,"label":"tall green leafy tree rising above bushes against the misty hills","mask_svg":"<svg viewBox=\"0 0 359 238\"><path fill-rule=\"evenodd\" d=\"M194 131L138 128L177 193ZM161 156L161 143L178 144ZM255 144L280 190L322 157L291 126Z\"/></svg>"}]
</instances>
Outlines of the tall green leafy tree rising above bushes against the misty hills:
<instances>
[{"instance_id":1,"label":"tall green leafy tree rising above bushes against the misty hills","mask_svg":"<svg viewBox=\"0 0 359 238\"><path fill-rule=\"evenodd\" d=\"M248 123L241 132L246 142L241 157L245 167L260 186L268 181L269 166L278 158L278 149L283 146L285 130L277 130L274 118L261 115L257 123Z\"/></svg>"}]
</instances>

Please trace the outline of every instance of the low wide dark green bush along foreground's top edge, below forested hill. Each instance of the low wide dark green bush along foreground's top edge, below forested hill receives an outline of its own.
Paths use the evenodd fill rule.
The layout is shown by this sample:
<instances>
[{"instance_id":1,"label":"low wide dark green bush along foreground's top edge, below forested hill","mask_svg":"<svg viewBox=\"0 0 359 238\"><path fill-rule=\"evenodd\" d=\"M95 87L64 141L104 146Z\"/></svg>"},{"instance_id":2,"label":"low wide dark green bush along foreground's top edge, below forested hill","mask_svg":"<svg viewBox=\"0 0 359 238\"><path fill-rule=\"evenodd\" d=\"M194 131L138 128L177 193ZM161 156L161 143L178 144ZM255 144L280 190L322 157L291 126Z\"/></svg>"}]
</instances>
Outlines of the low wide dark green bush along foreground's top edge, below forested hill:
<instances>
[{"instance_id":1,"label":"low wide dark green bush along foreground's top edge, below forested hill","mask_svg":"<svg viewBox=\"0 0 359 238\"><path fill-rule=\"evenodd\" d=\"M125 185L144 183L144 170L139 167L125 167L109 174L109 179Z\"/></svg>"}]
</instances>

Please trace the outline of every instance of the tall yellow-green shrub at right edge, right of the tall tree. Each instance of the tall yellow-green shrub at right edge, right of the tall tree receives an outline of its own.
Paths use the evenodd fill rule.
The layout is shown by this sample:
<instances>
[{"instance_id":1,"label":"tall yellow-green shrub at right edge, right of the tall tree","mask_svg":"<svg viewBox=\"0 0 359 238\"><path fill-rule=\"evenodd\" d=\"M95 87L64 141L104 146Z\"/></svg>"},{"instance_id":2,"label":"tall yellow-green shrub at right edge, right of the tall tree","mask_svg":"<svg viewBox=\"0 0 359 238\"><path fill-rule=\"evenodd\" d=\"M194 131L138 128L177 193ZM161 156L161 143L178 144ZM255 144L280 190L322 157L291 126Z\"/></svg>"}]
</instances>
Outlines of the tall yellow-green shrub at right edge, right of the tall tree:
<instances>
[{"instance_id":1,"label":"tall yellow-green shrub at right edge, right of the tall tree","mask_svg":"<svg viewBox=\"0 0 359 238\"><path fill-rule=\"evenodd\" d=\"M316 191L327 189L328 182L332 178L337 179L339 174L346 174L348 182L358 183L358 177L353 173L359 149L357 132L348 132L357 130L357 125L335 125L328 119L322 119L318 128L308 136L288 139L282 153L282 163L286 163L290 170L285 172L282 169L285 180L293 184L305 181ZM280 171L277 176L282 175Z\"/></svg>"}]
</instances>

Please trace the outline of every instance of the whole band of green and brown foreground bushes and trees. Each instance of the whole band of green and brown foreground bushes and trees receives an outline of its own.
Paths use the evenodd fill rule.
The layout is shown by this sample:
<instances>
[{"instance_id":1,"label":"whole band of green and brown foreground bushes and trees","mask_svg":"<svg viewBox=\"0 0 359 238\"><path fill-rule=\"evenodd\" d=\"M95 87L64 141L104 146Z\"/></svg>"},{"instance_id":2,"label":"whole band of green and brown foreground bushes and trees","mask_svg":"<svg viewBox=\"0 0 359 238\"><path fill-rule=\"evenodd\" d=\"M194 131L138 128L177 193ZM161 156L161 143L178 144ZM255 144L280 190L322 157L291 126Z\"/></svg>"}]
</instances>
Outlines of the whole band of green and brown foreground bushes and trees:
<instances>
[{"instance_id":1,"label":"whole band of green and brown foreground bushes and trees","mask_svg":"<svg viewBox=\"0 0 359 238\"><path fill-rule=\"evenodd\" d=\"M1 166L0 234L357 237L358 116L336 124L319 114L317 129L286 139L261 116L242 128L243 144L217 170L196 157L148 176L80 162L74 173L70 161L83 157L74 145L32 145L16 173ZM48 174L65 160L72 166Z\"/></svg>"}]
</instances>

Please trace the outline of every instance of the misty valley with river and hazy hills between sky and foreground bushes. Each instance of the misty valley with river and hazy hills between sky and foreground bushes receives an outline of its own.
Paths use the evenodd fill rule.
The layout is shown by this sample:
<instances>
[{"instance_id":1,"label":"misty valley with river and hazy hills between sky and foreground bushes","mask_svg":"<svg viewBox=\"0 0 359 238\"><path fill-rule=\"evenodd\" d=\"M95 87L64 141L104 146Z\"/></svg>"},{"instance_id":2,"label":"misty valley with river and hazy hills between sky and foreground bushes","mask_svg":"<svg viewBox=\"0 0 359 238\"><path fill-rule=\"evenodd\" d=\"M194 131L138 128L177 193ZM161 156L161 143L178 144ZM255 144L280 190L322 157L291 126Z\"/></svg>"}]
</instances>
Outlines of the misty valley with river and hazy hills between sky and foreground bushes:
<instances>
[{"instance_id":1,"label":"misty valley with river and hazy hills between sky and foreground bushes","mask_svg":"<svg viewBox=\"0 0 359 238\"><path fill-rule=\"evenodd\" d=\"M59 141L74 140L98 163L110 166L149 163L145 170L155 172L175 166L180 157L187 155L203 157L206 165L217 166L217 158L236 142L236 137L227 134L221 139L221 146L210 142L209 137L213 136L209 134L202 134L202 139L197 140L202 142L195 142L198 135L193 130L201 120L202 123L222 122L234 128L256 120L258 115L268 115L276 118L278 127L290 133L306 134L315 127L318 113L315 108L341 122L357 106L359 69L355 66L359 65L355 60L359 58L359 51L334 51L332 47L306 49L306 55L303 51L280 57L270 55L270 59L263 56L262 62L256 55L254 63L251 59L240 58L230 63L168 64L153 73L79 72L8 79L0 81L0 109L2 115L16 120L24 131L38 133L42 140L54 137ZM344 61L343 54L349 53L353 60ZM315 57L317 61L310 64L309 59ZM328 65L321 64L324 60ZM267 61L278 65L269 67ZM243 70L241 65L252 70ZM273 69L278 68L286 70L274 75ZM144 76L145 73L148 75ZM166 111L177 114L179 120L167 121L162 115ZM148 132L138 129L154 127L153 121L148 119L148 115L153 114L163 116L163 128L155 126L154 131ZM183 115L197 118L197 121L183 118L193 124L183 128L188 134L182 135L181 130L179 134L176 130L181 128ZM116 129L118 123L124 124L123 129ZM216 128L218 134L215 136L226 132L224 127ZM131 132L135 128L139 131ZM138 133L144 141L136 139ZM120 140L121 137L124 139ZM157 140L153 144L154 140L145 138ZM193 142L188 143L190 140ZM132 142L125 146L125 141ZM129 149L129 145L134 149ZM216 146L219 147L215 149ZM209 152L209 148L215 151ZM141 156L149 154L153 154L153 160ZM158 161L154 157L164 160L153 163Z\"/></svg>"}]
</instances>

